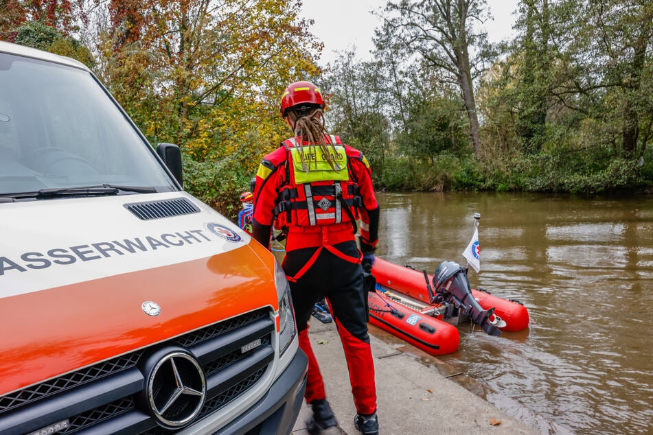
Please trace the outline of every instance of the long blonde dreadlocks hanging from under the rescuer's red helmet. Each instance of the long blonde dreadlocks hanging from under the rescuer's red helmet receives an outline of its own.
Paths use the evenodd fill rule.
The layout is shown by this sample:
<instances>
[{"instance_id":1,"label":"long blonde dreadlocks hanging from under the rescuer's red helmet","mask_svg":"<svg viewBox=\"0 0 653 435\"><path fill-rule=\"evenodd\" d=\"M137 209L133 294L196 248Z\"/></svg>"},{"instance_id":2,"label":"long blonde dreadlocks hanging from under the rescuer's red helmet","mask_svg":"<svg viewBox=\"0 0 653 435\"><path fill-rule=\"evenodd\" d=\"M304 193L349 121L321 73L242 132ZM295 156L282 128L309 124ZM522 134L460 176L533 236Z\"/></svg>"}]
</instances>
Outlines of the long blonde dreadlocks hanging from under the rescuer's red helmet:
<instances>
[{"instance_id":1,"label":"long blonde dreadlocks hanging from under the rescuer's red helmet","mask_svg":"<svg viewBox=\"0 0 653 435\"><path fill-rule=\"evenodd\" d=\"M324 114L319 106L299 106L288 109L288 116L294 121L293 132L297 137L297 148L301 158L301 169L310 172L310 162L306 163L303 148L308 146L308 152L317 152L317 148L324 154L324 158L331 169L342 169L336 163L336 146L331 140L331 135L324 125ZM304 145L307 142L307 145ZM330 152L333 151L333 154ZM314 166L317 169L317 159L314 160Z\"/></svg>"}]
</instances>

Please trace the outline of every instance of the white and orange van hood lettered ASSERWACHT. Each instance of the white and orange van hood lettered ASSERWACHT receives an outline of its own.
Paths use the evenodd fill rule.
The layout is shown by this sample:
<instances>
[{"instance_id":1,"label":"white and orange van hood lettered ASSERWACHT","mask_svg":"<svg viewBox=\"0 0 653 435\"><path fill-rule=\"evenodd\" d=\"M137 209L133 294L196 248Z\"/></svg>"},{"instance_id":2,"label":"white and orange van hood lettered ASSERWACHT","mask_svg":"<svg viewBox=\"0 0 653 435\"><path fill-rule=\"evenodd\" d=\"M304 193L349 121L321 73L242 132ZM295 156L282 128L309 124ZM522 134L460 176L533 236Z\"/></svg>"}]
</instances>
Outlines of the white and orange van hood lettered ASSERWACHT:
<instances>
[{"instance_id":1,"label":"white and orange van hood lettered ASSERWACHT","mask_svg":"<svg viewBox=\"0 0 653 435\"><path fill-rule=\"evenodd\" d=\"M133 212L161 201L190 207ZM0 395L277 309L271 253L187 193L0 204L0 216Z\"/></svg>"}]
</instances>

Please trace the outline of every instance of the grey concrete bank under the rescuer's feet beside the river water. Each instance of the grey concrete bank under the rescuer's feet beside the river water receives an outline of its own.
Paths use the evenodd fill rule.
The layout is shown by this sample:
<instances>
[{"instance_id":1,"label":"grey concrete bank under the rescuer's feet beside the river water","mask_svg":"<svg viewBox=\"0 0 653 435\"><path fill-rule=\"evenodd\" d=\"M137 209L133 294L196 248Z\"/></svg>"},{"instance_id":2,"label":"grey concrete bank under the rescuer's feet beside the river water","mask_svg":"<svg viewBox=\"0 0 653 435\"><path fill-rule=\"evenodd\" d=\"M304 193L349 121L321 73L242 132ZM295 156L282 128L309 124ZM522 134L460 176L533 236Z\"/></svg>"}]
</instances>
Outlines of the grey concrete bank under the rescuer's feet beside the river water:
<instances>
[{"instance_id":1,"label":"grey concrete bank under the rescuer's feet beside the river water","mask_svg":"<svg viewBox=\"0 0 653 435\"><path fill-rule=\"evenodd\" d=\"M435 368L420 362L420 351L408 344L385 341L384 332L370 327L378 395L380 434L541 434L448 378L446 364ZM359 434L354 428L354 401L347 366L334 323L310 320L310 342L325 378L327 397L339 427L325 434ZM402 346L415 353L406 353ZM412 352L411 352L412 353ZM426 354L424 354L426 355ZM431 357L433 358L433 357ZM437 359L432 360L437 364ZM442 372L442 373L441 373ZM449 376L464 377L451 373ZM473 388L473 387L472 387ZM293 435L308 434L310 408L304 404ZM564 433L564 432L556 432Z\"/></svg>"}]
</instances>

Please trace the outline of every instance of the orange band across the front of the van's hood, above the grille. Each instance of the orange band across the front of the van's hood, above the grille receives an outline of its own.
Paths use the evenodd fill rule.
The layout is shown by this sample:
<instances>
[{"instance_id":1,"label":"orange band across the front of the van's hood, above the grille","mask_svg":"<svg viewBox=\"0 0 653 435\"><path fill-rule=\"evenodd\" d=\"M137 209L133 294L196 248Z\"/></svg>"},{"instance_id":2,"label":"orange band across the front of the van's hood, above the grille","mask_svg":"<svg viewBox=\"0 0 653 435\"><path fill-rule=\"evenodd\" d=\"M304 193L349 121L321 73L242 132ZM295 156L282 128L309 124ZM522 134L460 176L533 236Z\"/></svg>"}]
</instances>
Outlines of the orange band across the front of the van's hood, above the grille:
<instances>
[{"instance_id":1,"label":"orange band across the front of the van's hood, above the grille","mask_svg":"<svg viewBox=\"0 0 653 435\"><path fill-rule=\"evenodd\" d=\"M0 298L0 395L253 309L277 309L274 259L255 245ZM161 314L146 315L145 301Z\"/></svg>"}]
</instances>

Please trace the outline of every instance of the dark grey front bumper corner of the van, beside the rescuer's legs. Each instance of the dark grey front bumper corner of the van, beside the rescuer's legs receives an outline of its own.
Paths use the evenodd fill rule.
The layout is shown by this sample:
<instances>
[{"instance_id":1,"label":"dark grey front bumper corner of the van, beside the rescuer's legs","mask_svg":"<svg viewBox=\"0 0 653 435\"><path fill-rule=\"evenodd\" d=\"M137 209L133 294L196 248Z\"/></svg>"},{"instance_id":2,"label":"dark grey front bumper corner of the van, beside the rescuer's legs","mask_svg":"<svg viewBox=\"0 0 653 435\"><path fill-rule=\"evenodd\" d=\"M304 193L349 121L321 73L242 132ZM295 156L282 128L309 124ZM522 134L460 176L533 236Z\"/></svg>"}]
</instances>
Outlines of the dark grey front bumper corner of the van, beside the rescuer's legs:
<instances>
[{"instance_id":1,"label":"dark grey front bumper corner of the van, beside the rescuer's legs","mask_svg":"<svg viewBox=\"0 0 653 435\"><path fill-rule=\"evenodd\" d=\"M297 349L266 395L216 434L290 434L303 402L307 370L308 358Z\"/></svg>"}]
</instances>

